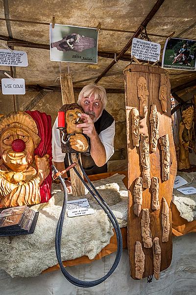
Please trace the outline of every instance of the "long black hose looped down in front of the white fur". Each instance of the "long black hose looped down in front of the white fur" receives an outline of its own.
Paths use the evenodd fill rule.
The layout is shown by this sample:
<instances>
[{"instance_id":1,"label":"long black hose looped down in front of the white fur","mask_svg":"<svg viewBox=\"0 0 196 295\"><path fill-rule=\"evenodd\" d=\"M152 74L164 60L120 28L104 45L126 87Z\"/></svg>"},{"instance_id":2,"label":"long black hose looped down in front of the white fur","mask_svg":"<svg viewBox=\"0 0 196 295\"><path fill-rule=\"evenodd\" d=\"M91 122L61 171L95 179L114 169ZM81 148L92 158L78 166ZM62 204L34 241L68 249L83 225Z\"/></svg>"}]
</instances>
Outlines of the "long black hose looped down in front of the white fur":
<instances>
[{"instance_id":1,"label":"long black hose looped down in front of the white fur","mask_svg":"<svg viewBox=\"0 0 196 295\"><path fill-rule=\"evenodd\" d=\"M69 158L70 158L70 162L71 164L72 159L70 157L69 154ZM81 166L81 163L78 162L79 165ZM82 166L81 166L82 167ZM52 165L52 169L54 170L55 173L57 173L58 171L56 170L56 168ZM62 227L63 227L63 223L64 223L64 218L65 218L65 212L66 212L66 207L67 207L67 188L66 188L66 184L63 180L63 178L61 176L59 176L59 180L63 186L63 192L64 192L64 201L63 201L63 207L60 213L60 217L57 223L57 228L56 228L56 236L55 236L55 250L56 250L56 257L59 263L59 266L61 268L61 271L63 273L63 275L66 277L66 279L72 283L75 286L78 287L83 287L83 288L89 288L89 287L94 287L97 286L98 284L102 283L103 281L105 281L116 269L116 267L118 266L120 259L121 259L121 255L122 255L122 251L123 251L123 240L122 240L122 235L121 235L121 229L119 227L119 224L116 220L116 217L114 216L113 212L111 211L111 209L108 207L108 205L105 203L105 201L103 200L103 198L99 195L98 191L96 190L96 188L94 188L93 184L91 183L90 179L86 177L86 179L89 179L89 183L91 185L91 187L93 187L93 189L95 190L95 193L89 188L89 186L86 184L86 182L83 180L83 178L80 176L80 174L78 173L77 169L73 168L75 173L77 174L78 177L80 177L81 181L83 182L83 184L86 186L86 188L89 190L89 192L92 194L92 196L96 199L96 201L98 202L98 204L101 206L101 208L106 212L106 214L108 215L116 236L117 236L117 255L114 261L114 264L112 265L111 269L108 271L108 273L106 275L104 275L102 278L95 280L95 281L81 281L78 280L77 278L74 278L63 266L62 263L62 259L61 259L61 235L62 235ZM82 171L84 173L84 175L86 175L86 173L84 172L83 168Z\"/></svg>"}]
</instances>

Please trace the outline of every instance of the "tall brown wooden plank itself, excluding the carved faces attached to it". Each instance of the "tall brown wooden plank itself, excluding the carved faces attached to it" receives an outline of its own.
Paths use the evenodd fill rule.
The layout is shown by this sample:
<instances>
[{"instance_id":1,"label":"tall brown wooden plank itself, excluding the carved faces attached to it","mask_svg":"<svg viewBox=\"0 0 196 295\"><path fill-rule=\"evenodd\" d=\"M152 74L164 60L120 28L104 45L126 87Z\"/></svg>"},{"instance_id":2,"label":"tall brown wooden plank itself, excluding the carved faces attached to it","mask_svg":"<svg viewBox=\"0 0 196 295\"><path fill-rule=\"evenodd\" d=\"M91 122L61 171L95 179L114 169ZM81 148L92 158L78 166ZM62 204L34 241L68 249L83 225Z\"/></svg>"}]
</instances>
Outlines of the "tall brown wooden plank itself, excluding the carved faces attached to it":
<instances>
[{"instance_id":1,"label":"tall brown wooden plank itself, excluding the carved faces attached to it","mask_svg":"<svg viewBox=\"0 0 196 295\"><path fill-rule=\"evenodd\" d=\"M167 113L162 111L161 103L159 100L159 86L160 86L160 74L166 74L167 80ZM169 136L170 142L170 178L168 181L162 181L162 162L161 162L161 146L158 142L155 152L149 151L150 158L150 178L159 178L159 202L160 209L152 210L151 201L151 187L143 188L143 201L142 208L149 209L150 215L150 230L152 239L154 237L159 238L161 246L161 268L164 270L170 266L172 261L172 215L171 215L171 201L173 182L176 176L176 155L172 136L172 120L171 120L171 101L170 101L170 81L169 75L166 70L157 67L142 66L142 65L128 65L124 69L125 79L125 103L126 103L126 120L127 120L127 150L128 150L128 251L129 262L132 278L135 277L135 244L136 241L142 243L142 248L145 253L145 271L143 278L153 274L153 252L151 248L145 248L141 236L141 218L136 216L133 211L134 197L133 187L137 177L142 177L142 166L140 164L140 151L139 147L134 147L132 143L131 134L131 109L133 107L139 110L139 98L137 89L137 80L140 76L143 76L147 80L148 86L148 111L146 118L140 120L140 133L149 136L150 146L150 106L155 104L157 107L159 117L159 138L165 134ZM162 198L165 198L170 207L170 235L168 242L162 242L162 224L161 224L161 212L162 212Z\"/></svg>"}]
</instances>

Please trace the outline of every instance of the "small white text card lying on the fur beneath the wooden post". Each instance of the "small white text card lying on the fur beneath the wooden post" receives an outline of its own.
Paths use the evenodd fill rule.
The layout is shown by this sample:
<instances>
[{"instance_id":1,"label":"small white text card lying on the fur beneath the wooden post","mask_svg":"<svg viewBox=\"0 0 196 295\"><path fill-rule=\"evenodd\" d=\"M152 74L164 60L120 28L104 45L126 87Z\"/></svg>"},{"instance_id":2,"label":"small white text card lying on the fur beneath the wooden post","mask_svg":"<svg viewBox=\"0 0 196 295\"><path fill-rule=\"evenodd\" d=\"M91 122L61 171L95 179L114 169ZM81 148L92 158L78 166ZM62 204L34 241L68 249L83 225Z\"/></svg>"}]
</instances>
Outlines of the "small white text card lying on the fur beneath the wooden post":
<instances>
[{"instance_id":1,"label":"small white text card lying on the fur beneath the wooden post","mask_svg":"<svg viewBox=\"0 0 196 295\"><path fill-rule=\"evenodd\" d=\"M95 213L94 209L90 208L87 199L79 199L67 202L68 217L89 215Z\"/></svg>"}]
</instances>

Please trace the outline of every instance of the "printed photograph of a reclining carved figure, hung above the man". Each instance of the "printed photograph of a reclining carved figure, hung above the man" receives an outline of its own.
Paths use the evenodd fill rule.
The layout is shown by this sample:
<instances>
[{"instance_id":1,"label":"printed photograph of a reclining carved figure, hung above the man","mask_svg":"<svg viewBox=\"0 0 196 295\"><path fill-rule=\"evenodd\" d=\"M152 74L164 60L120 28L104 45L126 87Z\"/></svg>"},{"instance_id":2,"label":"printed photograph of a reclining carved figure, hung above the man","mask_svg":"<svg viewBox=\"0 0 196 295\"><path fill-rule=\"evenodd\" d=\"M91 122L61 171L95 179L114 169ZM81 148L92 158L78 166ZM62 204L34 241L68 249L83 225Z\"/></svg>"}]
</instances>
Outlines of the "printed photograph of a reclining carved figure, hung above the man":
<instances>
[{"instance_id":1,"label":"printed photograph of a reclining carved figure, hung above the man","mask_svg":"<svg viewBox=\"0 0 196 295\"><path fill-rule=\"evenodd\" d=\"M50 60L98 62L98 31L93 28L50 24Z\"/></svg>"}]
</instances>

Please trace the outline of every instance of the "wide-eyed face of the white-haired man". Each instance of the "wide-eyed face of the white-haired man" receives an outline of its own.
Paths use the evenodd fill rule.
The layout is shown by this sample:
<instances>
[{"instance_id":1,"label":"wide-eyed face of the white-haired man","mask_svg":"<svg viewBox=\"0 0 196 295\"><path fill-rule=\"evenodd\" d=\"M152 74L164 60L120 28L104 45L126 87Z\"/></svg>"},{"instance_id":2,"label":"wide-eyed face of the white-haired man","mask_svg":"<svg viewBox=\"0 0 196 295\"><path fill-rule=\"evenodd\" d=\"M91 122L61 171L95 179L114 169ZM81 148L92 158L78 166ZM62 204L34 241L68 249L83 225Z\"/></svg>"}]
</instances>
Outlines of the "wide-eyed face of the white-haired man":
<instances>
[{"instance_id":1,"label":"wide-eyed face of the white-haired man","mask_svg":"<svg viewBox=\"0 0 196 295\"><path fill-rule=\"evenodd\" d=\"M88 97L82 97L80 106L84 110L84 113L89 115L93 122L96 122L103 110L103 104L100 100L94 98L94 94L92 94L91 97L90 95Z\"/></svg>"}]
</instances>

